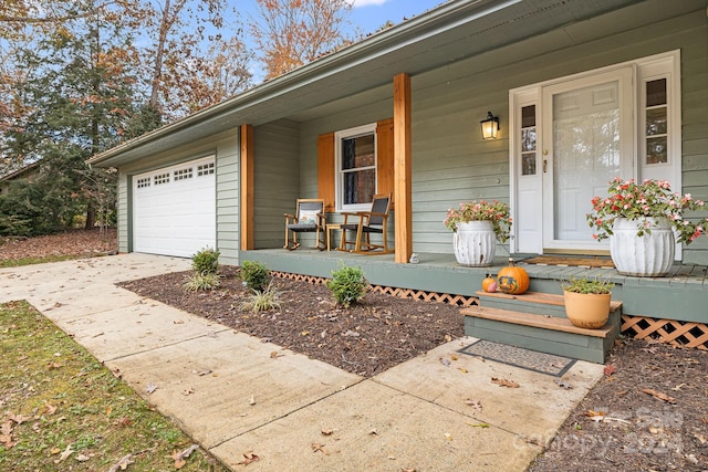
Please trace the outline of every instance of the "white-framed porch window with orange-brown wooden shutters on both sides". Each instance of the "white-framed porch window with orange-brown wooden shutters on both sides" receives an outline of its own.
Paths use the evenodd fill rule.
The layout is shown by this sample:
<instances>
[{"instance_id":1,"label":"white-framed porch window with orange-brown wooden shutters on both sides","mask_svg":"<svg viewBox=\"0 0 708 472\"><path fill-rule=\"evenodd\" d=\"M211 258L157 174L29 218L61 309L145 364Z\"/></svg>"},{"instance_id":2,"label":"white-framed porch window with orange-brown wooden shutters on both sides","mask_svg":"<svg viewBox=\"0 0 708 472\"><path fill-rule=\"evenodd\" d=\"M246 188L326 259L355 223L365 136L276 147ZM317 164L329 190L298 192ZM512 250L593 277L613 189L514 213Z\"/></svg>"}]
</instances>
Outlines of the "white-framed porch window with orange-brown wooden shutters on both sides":
<instances>
[{"instance_id":1,"label":"white-framed porch window with orange-brown wooden shutters on both sides","mask_svg":"<svg viewBox=\"0 0 708 472\"><path fill-rule=\"evenodd\" d=\"M393 119L321 135L317 174L325 211L367 210L375 193L393 196Z\"/></svg>"}]
</instances>

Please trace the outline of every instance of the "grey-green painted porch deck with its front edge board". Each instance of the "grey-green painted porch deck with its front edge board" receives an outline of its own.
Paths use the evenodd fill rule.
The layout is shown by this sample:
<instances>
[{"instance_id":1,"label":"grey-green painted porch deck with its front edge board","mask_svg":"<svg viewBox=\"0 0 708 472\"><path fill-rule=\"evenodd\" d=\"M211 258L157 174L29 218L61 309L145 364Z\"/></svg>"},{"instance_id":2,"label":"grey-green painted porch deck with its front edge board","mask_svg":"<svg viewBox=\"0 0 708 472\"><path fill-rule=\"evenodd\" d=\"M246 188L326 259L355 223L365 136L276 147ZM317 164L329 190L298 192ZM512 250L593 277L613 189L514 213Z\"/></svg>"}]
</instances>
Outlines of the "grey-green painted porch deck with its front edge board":
<instances>
[{"instance_id":1,"label":"grey-green painted porch deck with its front edge board","mask_svg":"<svg viewBox=\"0 0 708 472\"><path fill-rule=\"evenodd\" d=\"M708 268L680 264L664 277L621 275L615 269L528 264L523 260L535 254L517 254L517 264L531 279L530 291L562 294L561 281L572 276L608 280L615 284L613 300L621 301L624 314L656 319L708 323ZM475 296L486 274L496 275L507 266L508 255L498 255L489 268L458 265L454 254L419 253L417 264L397 264L394 254L361 255L344 251L317 251L301 248L244 251L242 260L263 263L272 271L331 277L341 263L360 266L369 283L397 289Z\"/></svg>"}]
</instances>

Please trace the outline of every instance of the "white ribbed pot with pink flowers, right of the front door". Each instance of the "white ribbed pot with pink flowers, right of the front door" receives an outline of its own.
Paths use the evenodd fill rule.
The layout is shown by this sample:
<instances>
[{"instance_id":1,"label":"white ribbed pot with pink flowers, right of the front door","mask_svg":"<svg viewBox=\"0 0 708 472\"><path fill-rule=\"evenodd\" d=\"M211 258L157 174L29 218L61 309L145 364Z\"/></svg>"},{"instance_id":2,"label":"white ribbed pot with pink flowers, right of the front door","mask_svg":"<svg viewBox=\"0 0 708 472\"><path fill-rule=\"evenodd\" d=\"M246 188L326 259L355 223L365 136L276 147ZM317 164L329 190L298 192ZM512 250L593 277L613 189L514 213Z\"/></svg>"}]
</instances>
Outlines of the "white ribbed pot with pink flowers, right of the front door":
<instances>
[{"instance_id":1,"label":"white ribbed pot with pink flowers, right of the front door","mask_svg":"<svg viewBox=\"0 0 708 472\"><path fill-rule=\"evenodd\" d=\"M666 275L674 262L675 243L690 244L706 233L708 220L690 221L684 212L704 208L690 193L671 191L667 180L615 178L606 197L592 199L587 223L597 241L610 239L610 255L621 274ZM676 237L675 237L676 232Z\"/></svg>"}]
</instances>

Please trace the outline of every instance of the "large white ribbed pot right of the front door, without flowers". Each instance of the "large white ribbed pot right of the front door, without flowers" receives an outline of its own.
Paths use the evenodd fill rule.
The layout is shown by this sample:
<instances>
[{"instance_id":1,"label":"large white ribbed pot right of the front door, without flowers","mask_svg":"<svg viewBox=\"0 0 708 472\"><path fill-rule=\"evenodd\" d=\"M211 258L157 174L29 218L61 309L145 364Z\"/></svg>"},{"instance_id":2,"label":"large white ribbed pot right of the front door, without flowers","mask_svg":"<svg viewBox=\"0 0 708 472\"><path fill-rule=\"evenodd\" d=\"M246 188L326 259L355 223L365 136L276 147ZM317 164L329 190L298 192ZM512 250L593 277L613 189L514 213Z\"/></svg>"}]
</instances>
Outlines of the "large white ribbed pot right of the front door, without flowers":
<instances>
[{"instance_id":1,"label":"large white ribbed pot right of the front door, without flowers","mask_svg":"<svg viewBox=\"0 0 708 472\"><path fill-rule=\"evenodd\" d=\"M637 237L637 225L649 224L650 233ZM660 277L674 263L676 242L666 218L627 220L617 218L610 237L610 255L617 272L637 277Z\"/></svg>"}]
</instances>

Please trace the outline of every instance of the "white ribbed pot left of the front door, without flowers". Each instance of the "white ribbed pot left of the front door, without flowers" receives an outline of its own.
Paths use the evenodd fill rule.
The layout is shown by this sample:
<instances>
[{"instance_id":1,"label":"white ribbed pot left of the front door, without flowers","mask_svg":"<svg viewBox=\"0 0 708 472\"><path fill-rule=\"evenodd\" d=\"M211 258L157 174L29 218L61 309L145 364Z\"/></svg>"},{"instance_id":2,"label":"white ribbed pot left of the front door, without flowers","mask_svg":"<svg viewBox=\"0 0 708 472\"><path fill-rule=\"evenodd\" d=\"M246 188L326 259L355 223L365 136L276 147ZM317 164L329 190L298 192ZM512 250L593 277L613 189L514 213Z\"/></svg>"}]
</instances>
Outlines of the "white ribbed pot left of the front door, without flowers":
<instances>
[{"instance_id":1,"label":"white ribbed pot left of the front door, without flowers","mask_svg":"<svg viewBox=\"0 0 708 472\"><path fill-rule=\"evenodd\" d=\"M497 238L491 221L458 223L452 234L455 259L460 265L486 268L491 265L497 250Z\"/></svg>"}]
</instances>

